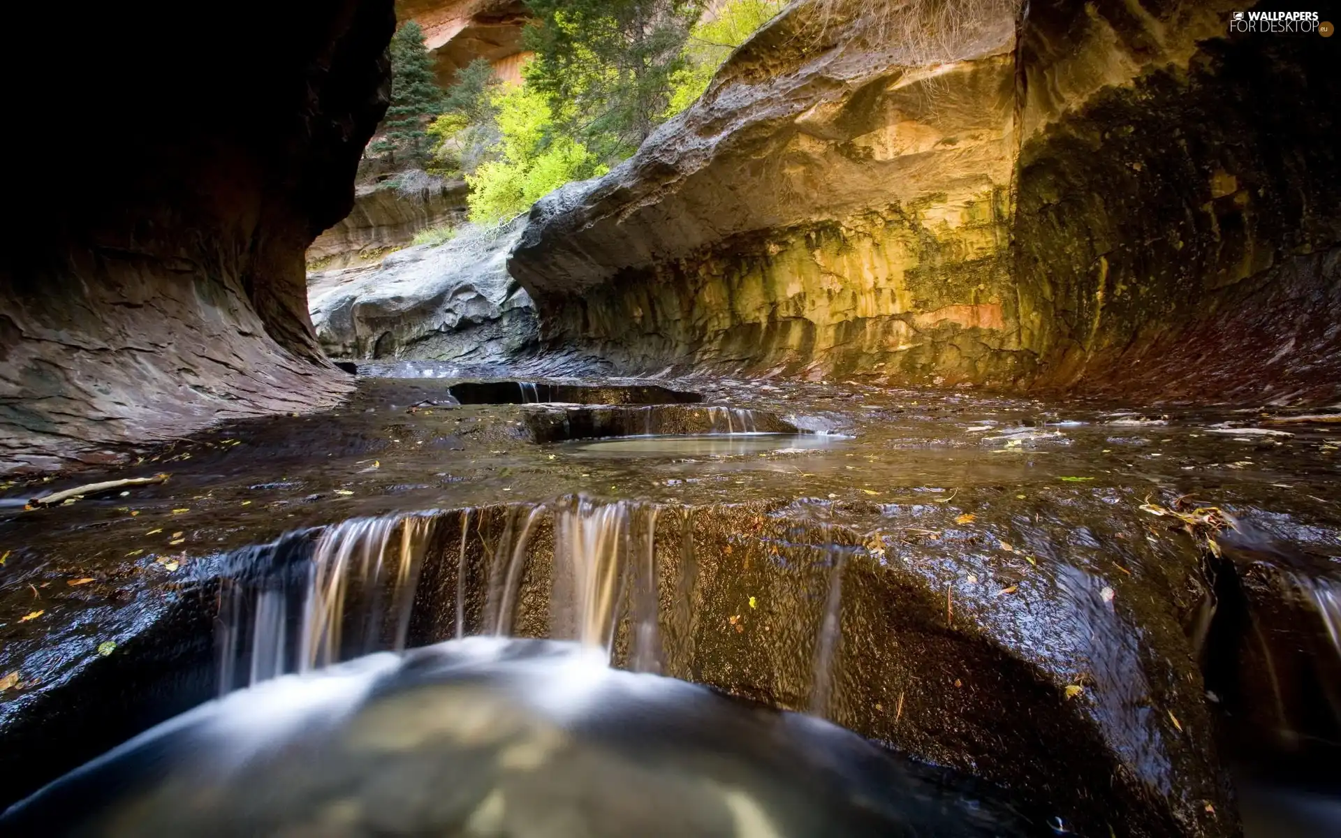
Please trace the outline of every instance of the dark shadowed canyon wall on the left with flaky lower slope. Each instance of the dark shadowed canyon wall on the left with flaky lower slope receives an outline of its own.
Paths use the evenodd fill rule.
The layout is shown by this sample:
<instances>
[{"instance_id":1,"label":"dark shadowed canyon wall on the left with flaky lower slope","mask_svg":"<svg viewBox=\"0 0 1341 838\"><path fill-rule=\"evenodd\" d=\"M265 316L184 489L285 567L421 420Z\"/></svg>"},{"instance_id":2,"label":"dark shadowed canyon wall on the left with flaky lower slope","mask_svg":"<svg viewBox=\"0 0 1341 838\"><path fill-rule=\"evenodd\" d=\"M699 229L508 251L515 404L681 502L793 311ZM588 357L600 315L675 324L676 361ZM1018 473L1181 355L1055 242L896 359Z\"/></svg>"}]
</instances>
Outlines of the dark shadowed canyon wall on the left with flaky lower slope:
<instances>
[{"instance_id":1,"label":"dark shadowed canyon wall on the left with flaky lower slope","mask_svg":"<svg viewBox=\"0 0 1341 838\"><path fill-rule=\"evenodd\" d=\"M347 392L303 251L350 209L393 27L390 0L247 0L204 28L143 3L71 16L67 76L7 51L30 129L5 158L30 197L0 247L0 473ZM80 79L89 130L58 78Z\"/></svg>"}]
</instances>

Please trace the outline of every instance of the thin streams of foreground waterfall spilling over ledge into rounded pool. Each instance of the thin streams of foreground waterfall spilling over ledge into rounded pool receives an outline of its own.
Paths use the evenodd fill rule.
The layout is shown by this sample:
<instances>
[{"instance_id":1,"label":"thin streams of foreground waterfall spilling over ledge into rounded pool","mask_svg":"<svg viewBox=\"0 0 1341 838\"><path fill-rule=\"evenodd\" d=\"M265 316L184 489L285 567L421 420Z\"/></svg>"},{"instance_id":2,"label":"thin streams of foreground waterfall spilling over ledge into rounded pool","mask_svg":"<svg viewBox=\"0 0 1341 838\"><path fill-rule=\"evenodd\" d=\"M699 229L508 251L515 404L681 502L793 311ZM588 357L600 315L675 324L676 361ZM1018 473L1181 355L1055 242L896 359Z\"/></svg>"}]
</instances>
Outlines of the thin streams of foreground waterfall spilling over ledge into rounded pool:
<instances>
[{"instance_id":1,"label":"thin streams of foreground waterfall spilling over ledge into rounded pool","mask_svg":"<svg viewBox=\"0 0 1341 838\"><path fill-rule=\"evenodd\" d=\"M259 573L235 579L221 599L221 689L469 634L539 633L579 641L638 672L689 672L713 630L695 605L703 558L692 510L665 522L658 543L665 514L650 503L577 496L353 519L315 539L287 536L283 560L275 546L253 548L264 556L240 563ZM827 528L817 535L819 544L795 546L803 562L779 567L806 575L822 568L809 583L821 594L811 599L818 611L813 652L798 661L797 673L806 678L809 669L810 709L825 713L839 657L842 575L853 548L834 544ZM660 564L658 547L670 568ZM665 599L664 578L672 586Z\"/></svg>"}]
</instances>

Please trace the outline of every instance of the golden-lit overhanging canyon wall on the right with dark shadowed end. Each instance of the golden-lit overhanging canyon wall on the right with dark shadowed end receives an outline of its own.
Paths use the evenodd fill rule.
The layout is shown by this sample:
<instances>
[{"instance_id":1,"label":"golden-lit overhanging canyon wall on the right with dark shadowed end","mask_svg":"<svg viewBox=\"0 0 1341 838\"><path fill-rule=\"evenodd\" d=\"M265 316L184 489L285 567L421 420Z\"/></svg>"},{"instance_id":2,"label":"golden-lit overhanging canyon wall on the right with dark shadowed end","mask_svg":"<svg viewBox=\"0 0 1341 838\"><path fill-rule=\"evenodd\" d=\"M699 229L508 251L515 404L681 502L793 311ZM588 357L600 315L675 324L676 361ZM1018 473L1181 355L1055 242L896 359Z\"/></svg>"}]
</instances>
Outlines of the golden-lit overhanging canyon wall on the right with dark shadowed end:
<instances>
[{"instance_id":1,"label":"golden-lit overhanging canyon wall on the right with dark shadowed end","mask_svg":"<svg viewBox=\"0 0 1341 838\"><path fill-rule=\"evenodd\" d=\"M1231 7L794 5L510 268L629 370L1336 401L1341 80Z\"/></svg>"}]
</instances>

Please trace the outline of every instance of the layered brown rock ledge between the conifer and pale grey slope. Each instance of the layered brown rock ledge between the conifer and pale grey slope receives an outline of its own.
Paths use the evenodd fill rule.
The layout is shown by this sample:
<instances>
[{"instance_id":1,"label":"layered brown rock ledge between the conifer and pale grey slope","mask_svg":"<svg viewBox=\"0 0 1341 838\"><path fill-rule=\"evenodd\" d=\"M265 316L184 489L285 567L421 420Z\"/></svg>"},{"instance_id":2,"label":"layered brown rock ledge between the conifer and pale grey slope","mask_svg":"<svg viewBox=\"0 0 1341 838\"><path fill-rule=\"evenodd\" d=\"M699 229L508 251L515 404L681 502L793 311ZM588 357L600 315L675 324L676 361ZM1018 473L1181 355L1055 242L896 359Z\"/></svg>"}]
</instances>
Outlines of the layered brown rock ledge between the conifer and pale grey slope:
<instances>
[{"instance_id":1,"label":"layered brown rock ledge between the conifer and pale grey slope","mask_svg":"<svg viewBox=\"0 0 1341 838\"><path fill-rule=\"evenodd\" d=\"M316 236L316 241L307 248L307 261L342 267L404 247L421 229L465 221L465 181L443 182L421 172L402 177L414 174L418 177L409 186L358 186L354 209Z\"/></svg>"}]
</instances>

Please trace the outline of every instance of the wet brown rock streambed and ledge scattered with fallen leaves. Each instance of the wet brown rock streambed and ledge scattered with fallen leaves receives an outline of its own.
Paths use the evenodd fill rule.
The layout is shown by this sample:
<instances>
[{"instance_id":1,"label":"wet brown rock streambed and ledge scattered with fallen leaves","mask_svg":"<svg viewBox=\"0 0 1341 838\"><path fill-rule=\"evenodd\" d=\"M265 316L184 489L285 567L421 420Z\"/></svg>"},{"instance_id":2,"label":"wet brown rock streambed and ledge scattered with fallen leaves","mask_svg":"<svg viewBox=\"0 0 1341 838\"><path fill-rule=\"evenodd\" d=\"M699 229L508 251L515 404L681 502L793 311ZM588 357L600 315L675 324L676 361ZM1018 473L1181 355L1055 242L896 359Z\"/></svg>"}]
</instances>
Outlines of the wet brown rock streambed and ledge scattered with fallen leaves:
<instances>
[{"instance_id":1,"label":"wet brown rock streambed and ledge scattered with fallen leaves","mask_svg":"<svg viewBox=\"0 0 1341 838\"><path fill-rule=\"evenodd\" d=\"M1214 505L1270 526L1310 556L1316 578L1334 574L1341 555L1329 488L1338 425L1270 424L1273 410L676 379L658 383L704 402L650 410L750 409L827 444L704 449L629 437L633 449L593 456L587 442L546 444L534 430L535 417L586 408L432 404L456 383L359 378L341 409L235 424L109 475L169 472L165 484L4 510L0 674L15 678L0 713L13 743L5 760L31 778L13 794L123 739L134 724L110 721L131 701L115 700L133 695L126 684L162 696L141 705L141 727L212 695L220 625L240 626L228 646L233 684L255 660L270 661L260 672L296 666L296 648L256 658L256 595L290 578L294 587L276 590L296 598L288 614L302 613L306 570L275 574L306 568L322 539L327 555L350 544L350 567L385 556L380 585L390 586L374 623L353 617L367 614L357 606L370 602L357 593L366 589L345 589L354 622L331 650L339 660L394 645L393 603L405 593L393 595L392 581L410 559L409 645L500 621L523 636L578 637L574 617L552 606L571 577L574 551L562 546L603 520L625 581L607 611L617 662L814 708L1086 834L1231 834L1214 721L1223 704L1206 699L1210 641L1199 629L1210 619L1211 637L1234 633L1206 617L1223 559L1206 532L1145 507ZM640 449L640 438L666 442ZM43 488L66 483L5 496ZM422 523L406 527L405 512ZM1298 617L1290 625L1318 637L1307 606ZM1235 677L1273 689L1261 668ZM1254 691L1242 692L1242 712L1257 712ZM107 700L86 700L98 695Z\"/></svg>"}]
</instances>

